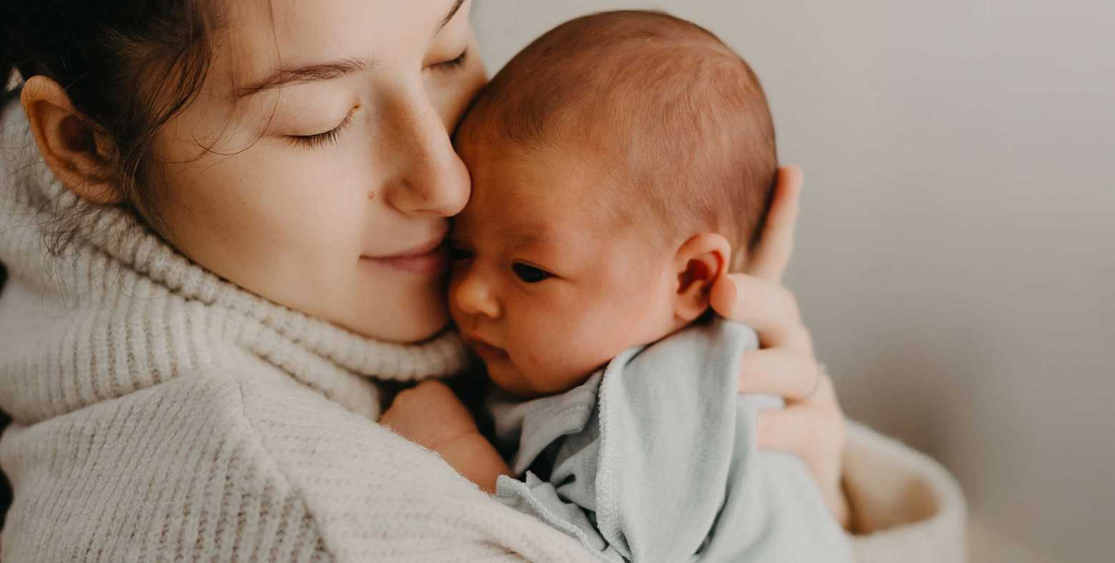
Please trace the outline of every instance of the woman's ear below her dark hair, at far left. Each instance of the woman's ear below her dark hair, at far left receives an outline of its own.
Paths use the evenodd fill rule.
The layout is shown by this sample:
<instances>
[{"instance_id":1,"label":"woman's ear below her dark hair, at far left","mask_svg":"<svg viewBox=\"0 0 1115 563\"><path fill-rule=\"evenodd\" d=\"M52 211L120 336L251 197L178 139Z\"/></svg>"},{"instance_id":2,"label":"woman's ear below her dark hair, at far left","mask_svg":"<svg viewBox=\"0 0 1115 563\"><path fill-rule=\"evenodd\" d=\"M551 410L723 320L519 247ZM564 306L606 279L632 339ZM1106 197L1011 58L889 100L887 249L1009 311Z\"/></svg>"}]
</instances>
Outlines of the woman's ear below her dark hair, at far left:
<instances>
[{"instance_id":1,"label":"woman's ear below her dark hair, at far left","mask_svg":"<svg viewBox=\"0 0 1115 563\"><path fill-rule=\"evenodd\" d=\"M35 144L50 171L69 191L99 204L124 196L113 182L113 148L108 136L74 108L58 82L32 76L20 95Z\"/></svg>"}]
</instances>

